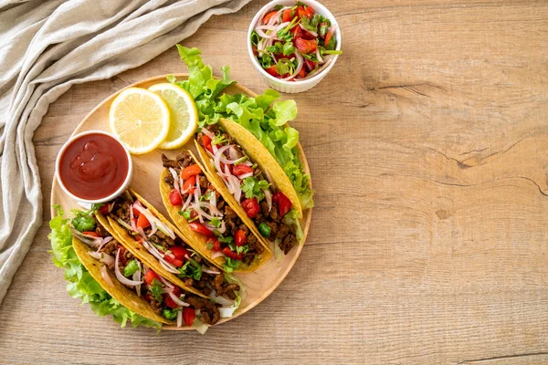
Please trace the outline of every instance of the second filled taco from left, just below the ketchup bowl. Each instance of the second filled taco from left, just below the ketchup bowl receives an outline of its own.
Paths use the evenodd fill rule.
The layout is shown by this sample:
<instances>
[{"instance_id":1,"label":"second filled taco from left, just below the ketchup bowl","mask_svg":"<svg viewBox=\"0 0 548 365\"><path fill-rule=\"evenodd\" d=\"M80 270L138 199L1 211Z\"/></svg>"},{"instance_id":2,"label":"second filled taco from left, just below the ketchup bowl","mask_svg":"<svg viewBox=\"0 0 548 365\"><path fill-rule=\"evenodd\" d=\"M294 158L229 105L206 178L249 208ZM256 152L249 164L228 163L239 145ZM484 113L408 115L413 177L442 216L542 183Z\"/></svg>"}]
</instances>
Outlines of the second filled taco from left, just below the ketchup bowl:
<instances>
[{"instance_id":1,"label":"second filled taco from left, just below the ketchup bowl","mask_svg":"<svg viewBox=\"0 0 548 365\"><path fill-rule=\"evenodd\" d=\"M126 191L106 203L97 220L110 226L114 237L157 274L198 297L223 305L221 318L232 317L239 307L241 287L237 279L186 245L179 230L138 193Z\"/></svg>"}]
</instances>

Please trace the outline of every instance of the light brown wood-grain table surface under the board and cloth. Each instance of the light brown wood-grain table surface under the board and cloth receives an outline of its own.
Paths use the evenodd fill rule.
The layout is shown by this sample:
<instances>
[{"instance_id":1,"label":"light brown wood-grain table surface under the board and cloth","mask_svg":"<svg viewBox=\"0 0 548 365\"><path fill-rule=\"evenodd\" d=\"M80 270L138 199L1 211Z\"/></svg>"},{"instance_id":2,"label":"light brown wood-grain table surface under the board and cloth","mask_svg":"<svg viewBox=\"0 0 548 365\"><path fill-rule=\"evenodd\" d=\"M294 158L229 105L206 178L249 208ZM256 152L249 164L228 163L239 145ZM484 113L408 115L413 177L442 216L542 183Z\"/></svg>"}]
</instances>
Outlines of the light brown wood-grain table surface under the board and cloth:
<instances>
[{"instance_id":1,"label":"light brown wood-grain table surface under the board and cloth","mask_svg":"<svg viewBox=\"0 0 548 365\"><path fill-rule=\"evenodd\" d=\"M212 18L184 45L262 91L246 31L265 3ZM316 207L279 288L205 336L156 336L79 306L51 263L61 144L117 89L184 72L172 48L49 108L35 137L46 224L0 307L0 362L548 361L548 3L324 3L344 54L293 96Z\"/></svg>"}]
</instances>

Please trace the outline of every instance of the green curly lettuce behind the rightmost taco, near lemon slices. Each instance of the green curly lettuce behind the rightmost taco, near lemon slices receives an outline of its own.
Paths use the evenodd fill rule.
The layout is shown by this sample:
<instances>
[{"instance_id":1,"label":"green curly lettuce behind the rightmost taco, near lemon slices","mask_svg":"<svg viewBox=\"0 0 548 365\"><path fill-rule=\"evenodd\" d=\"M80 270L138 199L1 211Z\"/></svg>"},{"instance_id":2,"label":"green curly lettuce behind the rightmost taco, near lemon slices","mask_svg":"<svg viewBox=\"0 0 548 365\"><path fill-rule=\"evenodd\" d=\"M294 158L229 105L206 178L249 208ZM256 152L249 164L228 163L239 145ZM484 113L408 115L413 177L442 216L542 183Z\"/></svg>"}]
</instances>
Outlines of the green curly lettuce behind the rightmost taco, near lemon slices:
<instances>
[{"instance_id":1,"label":"green curly lettuce behind the rightmost taco, near lemon slices","mask_svg":"<svg viewBox=\"0 0 548 365\"><path fill-rule=\"evenodd\" d=\"M219 118L234 120L241 124L260 141L274 156L299 194L303 209L314 206L314 192L310 187L310 174L304 172L299 160L299 131L286 123L297 117L295 100L279 99L279 92L267 89L256 98L243 94L228 95L222 91L236 81L230 79L230 68L222 68L223 78L213 77L212 68L204 65L200 50L177 45L179 55L189 70L189 77L176 81L167 79L186 89L195 99L199 124L215 124Z\"/></svg>"}]
</instances>

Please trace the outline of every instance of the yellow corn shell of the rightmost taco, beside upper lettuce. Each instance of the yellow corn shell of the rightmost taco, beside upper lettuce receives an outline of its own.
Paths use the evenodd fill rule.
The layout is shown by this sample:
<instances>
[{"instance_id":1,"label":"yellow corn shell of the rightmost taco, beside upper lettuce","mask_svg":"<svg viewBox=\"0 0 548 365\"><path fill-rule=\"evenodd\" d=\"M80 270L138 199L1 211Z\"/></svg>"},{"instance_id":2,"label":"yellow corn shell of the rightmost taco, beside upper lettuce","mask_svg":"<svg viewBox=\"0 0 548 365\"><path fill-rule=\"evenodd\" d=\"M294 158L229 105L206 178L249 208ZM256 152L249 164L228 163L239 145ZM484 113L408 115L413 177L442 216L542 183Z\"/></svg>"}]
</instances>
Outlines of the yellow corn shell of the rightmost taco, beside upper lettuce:
<instances>
[{"instance_id":1,"label":"yellow corn shell of the rightmost taco, beside upper lettuce","mask_svg":"<svg viewBox=\"0 0 548 365\"><path fill-rule=\"evenodd\" d=\"M241 125L232 120L220 119L219 125L227 132L227 134L237 141L237 144L248 154L248 157L258 164L258 167L263 172L268 172L272 178L272 182L276 188L284 193L291 201L291 209L297 212L297 215L302 218L302 207L300 206L299 195L290 178L283 171L279 163L276 161L263 144L257 138ZM215 171L215 170L213 170ZM223 183L224 184L224 183Z\"/></svg>"}]
</instances>

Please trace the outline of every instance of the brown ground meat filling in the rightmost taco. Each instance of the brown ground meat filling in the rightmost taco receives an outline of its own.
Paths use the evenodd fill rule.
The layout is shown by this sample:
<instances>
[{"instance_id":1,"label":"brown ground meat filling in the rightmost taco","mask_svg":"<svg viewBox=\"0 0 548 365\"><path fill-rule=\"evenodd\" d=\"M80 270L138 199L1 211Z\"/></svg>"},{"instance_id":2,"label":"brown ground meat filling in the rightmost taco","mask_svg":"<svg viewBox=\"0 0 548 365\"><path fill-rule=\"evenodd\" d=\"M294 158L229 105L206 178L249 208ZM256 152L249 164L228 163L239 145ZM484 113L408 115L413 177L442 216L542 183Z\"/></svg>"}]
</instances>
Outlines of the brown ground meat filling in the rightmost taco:
<instances>
[{"instance_id":1,"label":"brown ground meat filling in the rightmost taco","mask_svg":"<svg viewBox=\"0 0 548 365\"><path fill-rule=\"evenodd\" d=\"M216 134L218 133L219 129L216 124L208 125L207 130L210 132ZM197 141L200 143L202 147L204 147L202 137L204 136L203 132L198 133ZM227 133L223 133L223 137L227 140L226 144L235 144L236 149L241 154L244 154L237 143L230 137ZM253 172L254 176L261 177L261 170L259 168L256 168ZM262 177L261 177L262 178ZM173 179L172 179L173 183ZM243 197L242 199L245 199ZM297 236L296 236L296 226L293 224L292 227L290 227L288 224L284 224L282 222L282 217L279 216L279 209L278 205L275 202L272 202L272 209L269 210L269 203L266 202L266 200L263 200L260 202L260 213L257 214L255 217L251 218L254 224L257 226L261 223L265 223L269 225L270 227L270 235L267 237L269 241L275 241L279 240L279 248L283 251L284 254L288 254L293 248L294 245L297 244ZM246 261L246 257L244 257L244 262Z\"/></svg>"}]
</instances>

